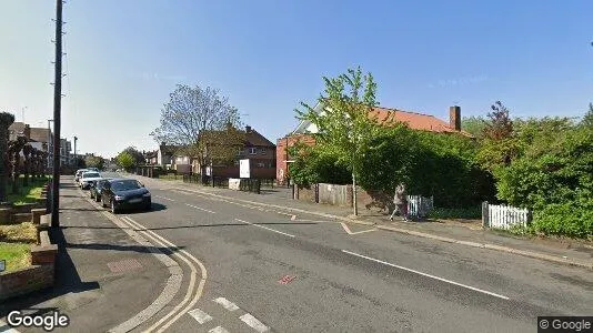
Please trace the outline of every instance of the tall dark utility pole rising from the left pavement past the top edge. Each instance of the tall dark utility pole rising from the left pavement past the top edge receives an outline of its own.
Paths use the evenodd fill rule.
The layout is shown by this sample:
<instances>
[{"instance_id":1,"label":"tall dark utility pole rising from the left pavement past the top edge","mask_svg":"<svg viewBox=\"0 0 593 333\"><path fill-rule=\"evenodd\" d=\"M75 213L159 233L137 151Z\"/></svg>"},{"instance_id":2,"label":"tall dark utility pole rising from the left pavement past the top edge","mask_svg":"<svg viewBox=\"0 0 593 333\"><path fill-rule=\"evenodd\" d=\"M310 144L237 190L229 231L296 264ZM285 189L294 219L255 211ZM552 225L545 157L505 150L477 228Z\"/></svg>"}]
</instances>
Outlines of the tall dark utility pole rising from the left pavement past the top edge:
<instances>
[{"instance_id":1,"label":"tall dark utility pole rising from the left pavement past the top edge","mask_svg":"<svg viewBox=\"0 0 593 333\"><path fill-rule=\"evenodd\" d=\"M51 226L60 226L60 130L62 124L62 0L56 0L56 73L53 82L53 172ZM58 142L58 144L56 144Z\"/></svg>"}]
</instances>

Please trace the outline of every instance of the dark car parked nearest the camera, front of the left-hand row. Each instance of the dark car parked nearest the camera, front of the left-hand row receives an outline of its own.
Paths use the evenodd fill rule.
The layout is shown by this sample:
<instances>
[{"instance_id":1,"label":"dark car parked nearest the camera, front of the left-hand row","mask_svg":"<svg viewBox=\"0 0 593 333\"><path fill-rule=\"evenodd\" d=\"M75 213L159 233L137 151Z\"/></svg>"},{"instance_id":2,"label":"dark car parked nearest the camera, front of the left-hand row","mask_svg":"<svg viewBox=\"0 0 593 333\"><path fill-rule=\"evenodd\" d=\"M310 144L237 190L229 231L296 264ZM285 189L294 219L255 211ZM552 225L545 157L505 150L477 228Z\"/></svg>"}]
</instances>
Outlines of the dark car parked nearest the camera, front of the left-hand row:
<instances>
[{"instance_id":1,"label":"dark car parked nearest the camera, front of the left-hand row","mask_svg":"<svg viewBox=\"0 0 593 333\"><path fill-rule=\"evenodd\" d=\"M152 208L150 192L133 179L111 179L101 188L101 204L111 208L117 214L124 209L139 208L149 211Z\"/></svg>"}]
</instances>

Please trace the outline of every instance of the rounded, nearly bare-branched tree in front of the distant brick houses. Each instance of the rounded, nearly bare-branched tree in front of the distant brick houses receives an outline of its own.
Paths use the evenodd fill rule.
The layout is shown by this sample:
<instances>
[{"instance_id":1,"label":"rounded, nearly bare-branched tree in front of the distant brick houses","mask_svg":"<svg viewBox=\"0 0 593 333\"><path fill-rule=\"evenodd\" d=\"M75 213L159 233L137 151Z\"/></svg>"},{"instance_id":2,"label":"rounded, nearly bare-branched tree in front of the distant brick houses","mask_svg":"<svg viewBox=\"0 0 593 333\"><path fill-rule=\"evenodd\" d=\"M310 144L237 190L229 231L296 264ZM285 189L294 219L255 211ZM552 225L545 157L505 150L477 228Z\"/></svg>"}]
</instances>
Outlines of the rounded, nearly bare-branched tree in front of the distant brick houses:
<instances>
[{"instance_id":1,"label":"rounded, nearly bare-branched tree in front of the distant brick houses","mask_svg":"<svg viewBox=\"0 0 593 333\"><path fill-rule=\"evenodd\" d=\"M217 144L222 143L221 147L225 143L234 145L241 140L233 137L237 131L228 129L240 125L239 111L227 97L220 95L219 90L178 84L161 110L160 127L150 135L159 143L181 147L185 154L197 158L204 165L211 162L204 159L212 157L212 140ZM237 155L237 149L233 155Z\"/></svg>"}]
</instances>

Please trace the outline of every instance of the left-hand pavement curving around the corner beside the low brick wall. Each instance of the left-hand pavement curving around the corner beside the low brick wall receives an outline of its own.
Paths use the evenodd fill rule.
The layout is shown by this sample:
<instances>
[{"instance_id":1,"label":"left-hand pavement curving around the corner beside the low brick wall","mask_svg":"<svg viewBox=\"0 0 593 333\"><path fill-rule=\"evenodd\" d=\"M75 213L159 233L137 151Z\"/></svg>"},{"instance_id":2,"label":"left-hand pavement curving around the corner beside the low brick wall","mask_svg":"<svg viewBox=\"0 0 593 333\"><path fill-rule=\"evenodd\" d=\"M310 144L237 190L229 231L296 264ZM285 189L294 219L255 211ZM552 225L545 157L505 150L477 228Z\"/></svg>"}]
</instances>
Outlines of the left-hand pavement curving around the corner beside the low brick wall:
<instances>
[{"instance_id":1,"label":"left-hand pavement curving around the corner beside the low brick wall","mask_svg":"<svg viewBox=\"0 0 593 333\"><path fill-rule=\"evenodd\" d=\"M151 254L153 249L117 228L72 181L62 179L60 228L50 230L59 246L54 287L3 302L0 319L12 310L27 314L59 310L71 319L71 332L104 332L147 307L153 291L162 290L169 272Z\"/></svg>"}]
</instances>

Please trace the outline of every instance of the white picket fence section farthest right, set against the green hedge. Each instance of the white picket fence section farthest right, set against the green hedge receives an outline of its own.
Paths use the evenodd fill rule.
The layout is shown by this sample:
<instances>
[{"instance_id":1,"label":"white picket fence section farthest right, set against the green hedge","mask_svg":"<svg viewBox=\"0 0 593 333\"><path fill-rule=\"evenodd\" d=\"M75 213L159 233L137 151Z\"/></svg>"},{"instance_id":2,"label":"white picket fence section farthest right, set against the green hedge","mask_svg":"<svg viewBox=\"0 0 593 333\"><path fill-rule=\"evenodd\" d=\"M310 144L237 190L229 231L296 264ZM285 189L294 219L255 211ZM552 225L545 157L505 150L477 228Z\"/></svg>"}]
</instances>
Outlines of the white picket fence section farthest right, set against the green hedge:
<instances>
[{"instance_id":1,"label":"white picket fence section farthest right, set against the green hedge","mask_svg":"<svg viewBox=\"0 0 593 333\"><path fill-rule=\"evenodd\" d=\"M530 211L505 204L495 205L484 202L482 215L484 226L509 230L515 225L526 226Z\"/></svg>"}]
</instances>

